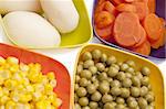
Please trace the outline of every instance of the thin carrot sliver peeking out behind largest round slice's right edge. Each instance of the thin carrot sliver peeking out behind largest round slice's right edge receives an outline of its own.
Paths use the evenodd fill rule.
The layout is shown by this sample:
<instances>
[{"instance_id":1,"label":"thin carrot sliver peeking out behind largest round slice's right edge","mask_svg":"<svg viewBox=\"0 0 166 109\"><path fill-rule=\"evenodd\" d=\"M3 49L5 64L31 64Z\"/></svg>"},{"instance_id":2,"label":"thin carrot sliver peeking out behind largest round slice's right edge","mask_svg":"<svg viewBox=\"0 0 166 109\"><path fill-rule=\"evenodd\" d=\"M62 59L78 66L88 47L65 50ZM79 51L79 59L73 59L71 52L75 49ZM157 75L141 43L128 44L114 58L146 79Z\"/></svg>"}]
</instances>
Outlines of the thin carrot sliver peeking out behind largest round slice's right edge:
<instances>
[{"instance_id":1,"label":"thin carrot sliver peeking out behind largest round slice's right edge","mask_svg":"<svg viewBox=\"0 0 166 109\"><path fill-rule=\"evenodd\" d=\"M139 25L139 35L141 40L137 44L134 45L134 47L141 46L146 41L146 32L142 25Z\"/></svg>"}]
</instances>

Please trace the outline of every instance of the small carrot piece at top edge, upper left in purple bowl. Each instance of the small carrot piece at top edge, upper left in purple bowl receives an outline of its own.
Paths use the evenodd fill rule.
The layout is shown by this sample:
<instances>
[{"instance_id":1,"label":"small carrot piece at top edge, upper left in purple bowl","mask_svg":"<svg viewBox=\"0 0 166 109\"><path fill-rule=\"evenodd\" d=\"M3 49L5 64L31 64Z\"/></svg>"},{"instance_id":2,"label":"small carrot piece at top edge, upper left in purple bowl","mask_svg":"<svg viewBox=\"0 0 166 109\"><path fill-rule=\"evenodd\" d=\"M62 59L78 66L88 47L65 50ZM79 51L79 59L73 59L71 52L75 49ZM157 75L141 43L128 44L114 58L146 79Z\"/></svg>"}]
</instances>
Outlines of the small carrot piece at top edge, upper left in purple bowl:
<instances>
[{"instance_id":1,"label":"small carrot piece at top edge, upper left in purple bowl","mask_svg":"<svg viewBox=\"0 0 166 109\"><path fill-rule=\"evenodd\" d=\"M104 3L104 10L115 14L115 7L110 1L105 1Z\"/></svg>"}]
</instances>

